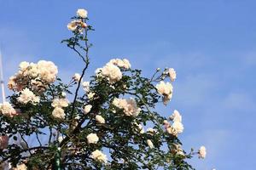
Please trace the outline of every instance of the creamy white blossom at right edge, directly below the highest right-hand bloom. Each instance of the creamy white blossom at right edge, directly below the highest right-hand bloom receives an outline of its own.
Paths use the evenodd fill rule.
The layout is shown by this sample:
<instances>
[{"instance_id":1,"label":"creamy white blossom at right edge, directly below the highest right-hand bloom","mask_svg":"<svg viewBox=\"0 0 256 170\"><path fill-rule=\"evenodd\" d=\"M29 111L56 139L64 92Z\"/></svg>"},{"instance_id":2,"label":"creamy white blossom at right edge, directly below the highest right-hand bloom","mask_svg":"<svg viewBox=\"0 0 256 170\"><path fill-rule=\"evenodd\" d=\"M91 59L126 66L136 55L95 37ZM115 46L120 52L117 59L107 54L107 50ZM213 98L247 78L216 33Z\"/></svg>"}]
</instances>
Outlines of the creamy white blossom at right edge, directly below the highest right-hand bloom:
<instances>
[{"instance_id":1,"label":"creamy white blossom at right edge, directly below the highest right-hand bloom","mask_svg":"<svg viewBox=\"0 0 256 170\"><path fill-rule=\"evenodd\" d=\"M155 88L159 94L163 95L163 102L166 105L172 99L172 84L170 82L160 81Z\"/></svg>"}]
</instances>

